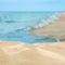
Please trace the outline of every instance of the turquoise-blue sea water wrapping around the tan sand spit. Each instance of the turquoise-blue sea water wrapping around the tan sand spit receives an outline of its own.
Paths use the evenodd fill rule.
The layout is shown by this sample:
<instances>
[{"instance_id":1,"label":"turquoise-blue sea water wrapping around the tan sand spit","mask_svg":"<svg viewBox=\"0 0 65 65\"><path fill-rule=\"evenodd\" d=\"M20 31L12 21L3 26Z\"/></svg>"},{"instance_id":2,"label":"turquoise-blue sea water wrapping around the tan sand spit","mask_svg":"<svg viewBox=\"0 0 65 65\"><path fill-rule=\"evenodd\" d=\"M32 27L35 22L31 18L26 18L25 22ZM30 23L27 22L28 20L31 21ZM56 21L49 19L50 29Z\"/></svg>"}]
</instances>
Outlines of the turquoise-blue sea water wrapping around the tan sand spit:
<instances>
[{"instance_id":1,"label":"turquoise-blue sea water wrapping around the tan sand spit","mask_svg":"<svg viewBox=\"0 0 65 65\"><path fill-rule=\"evenodd\" d=\"M56 42L57 38L31 35L27 28L46 23L57 12L0 12L0 40L25 43Z\"/></svg>"}]
</instances>

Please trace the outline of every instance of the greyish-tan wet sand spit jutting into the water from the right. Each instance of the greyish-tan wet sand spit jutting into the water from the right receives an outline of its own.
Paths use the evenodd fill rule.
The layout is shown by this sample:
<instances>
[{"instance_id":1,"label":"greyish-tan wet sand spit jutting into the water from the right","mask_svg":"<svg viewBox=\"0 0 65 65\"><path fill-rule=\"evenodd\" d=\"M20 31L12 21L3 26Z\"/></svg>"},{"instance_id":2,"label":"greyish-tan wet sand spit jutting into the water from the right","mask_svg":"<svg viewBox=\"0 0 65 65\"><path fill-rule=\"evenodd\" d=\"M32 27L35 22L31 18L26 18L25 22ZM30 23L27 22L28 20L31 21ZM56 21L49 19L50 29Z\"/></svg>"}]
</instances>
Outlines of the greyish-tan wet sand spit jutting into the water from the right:
<instances>
[{"instance_id":1,"label":"greyish-tan wet sand spit jutting into the water from the right","mask_svg":"<svg viewBox=\"0 0 65 65\"><path fill-rule=\"evenodd\" d=\"M58 18L51 22L48 26L35 28L30 31L34 35L48 35L50 37L56 37L61 41L65 41L65 13L61 13Z\"/></svg>"}]
</instances>

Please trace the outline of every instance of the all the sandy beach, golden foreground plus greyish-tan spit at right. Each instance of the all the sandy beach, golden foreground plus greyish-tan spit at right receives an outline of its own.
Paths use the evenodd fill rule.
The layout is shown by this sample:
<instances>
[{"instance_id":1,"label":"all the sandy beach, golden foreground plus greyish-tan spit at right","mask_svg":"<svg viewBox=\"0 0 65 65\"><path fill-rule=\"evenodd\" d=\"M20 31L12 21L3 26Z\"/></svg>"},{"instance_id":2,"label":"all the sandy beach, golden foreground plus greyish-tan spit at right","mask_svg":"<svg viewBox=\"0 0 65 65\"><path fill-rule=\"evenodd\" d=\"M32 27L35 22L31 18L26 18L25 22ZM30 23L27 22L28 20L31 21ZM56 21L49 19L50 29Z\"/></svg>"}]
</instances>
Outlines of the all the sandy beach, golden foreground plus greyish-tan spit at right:
<instances>
[{"instance_id":1,"label":"all the sandy beach, golden foreground plus greyish-tan spit at right","mask_svg":"<svg viewBox=\"0 0 65 65\"><path fill-rule=\"evenodd\" d=\"M53 43L24 43L0 41L0 65L65 65L65 13L42 28L30 30L32 35L56 37Z\"/></svg>"}]
</instances>

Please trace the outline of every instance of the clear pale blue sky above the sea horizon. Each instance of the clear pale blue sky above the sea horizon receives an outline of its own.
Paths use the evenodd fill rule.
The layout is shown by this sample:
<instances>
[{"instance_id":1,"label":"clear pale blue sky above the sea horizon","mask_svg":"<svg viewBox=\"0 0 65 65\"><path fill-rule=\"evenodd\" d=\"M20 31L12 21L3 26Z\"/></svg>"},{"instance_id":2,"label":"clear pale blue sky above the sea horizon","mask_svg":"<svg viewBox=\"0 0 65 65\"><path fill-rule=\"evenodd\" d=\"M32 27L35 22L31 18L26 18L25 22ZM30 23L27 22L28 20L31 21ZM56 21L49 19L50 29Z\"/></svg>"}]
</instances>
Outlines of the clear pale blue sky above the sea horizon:
<instances>
[{"instance_id":1,"label":"clear pale blue sky above the sea horizon","mask_svg":"<svg viewBox=\"0 0 65 65\"><path fill-rule=\"evenodd\" d=\"M65 11L65 1L0 0L0 11Z\"/></svg>"}]
</instances>

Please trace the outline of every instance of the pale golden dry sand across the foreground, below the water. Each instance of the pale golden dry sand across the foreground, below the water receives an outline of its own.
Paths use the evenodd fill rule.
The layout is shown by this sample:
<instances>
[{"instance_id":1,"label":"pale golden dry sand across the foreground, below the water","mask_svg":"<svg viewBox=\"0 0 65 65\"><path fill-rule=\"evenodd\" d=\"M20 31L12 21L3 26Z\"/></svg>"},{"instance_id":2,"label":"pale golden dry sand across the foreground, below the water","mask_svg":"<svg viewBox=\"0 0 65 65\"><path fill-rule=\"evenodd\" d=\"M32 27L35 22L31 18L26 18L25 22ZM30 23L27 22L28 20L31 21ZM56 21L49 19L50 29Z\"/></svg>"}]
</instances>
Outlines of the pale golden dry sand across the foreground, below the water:
<instances>
[{"instance_id":1,"label":"pale golden dry sand across the foreground, below the water","mask_svg":"<svg viewBox=\"0 0 65 65\"><path fill-rule=\"evenodd\" d=\"M0 41L0 65L65 65L65 42Z\"/></svg>"}]
</instances>

